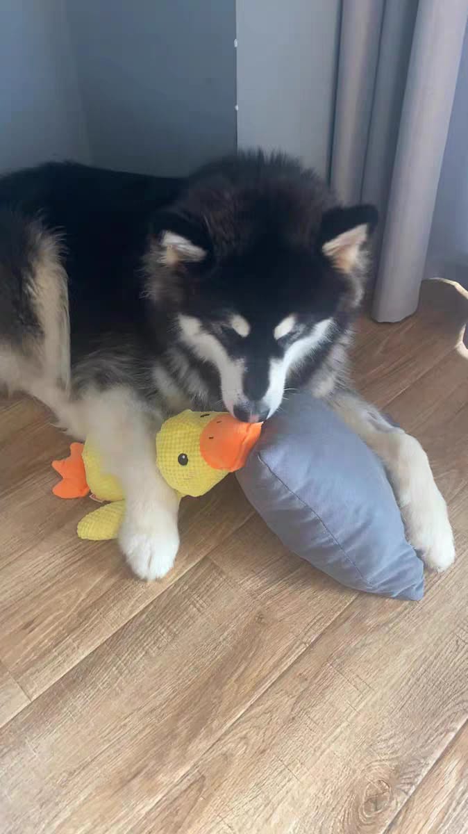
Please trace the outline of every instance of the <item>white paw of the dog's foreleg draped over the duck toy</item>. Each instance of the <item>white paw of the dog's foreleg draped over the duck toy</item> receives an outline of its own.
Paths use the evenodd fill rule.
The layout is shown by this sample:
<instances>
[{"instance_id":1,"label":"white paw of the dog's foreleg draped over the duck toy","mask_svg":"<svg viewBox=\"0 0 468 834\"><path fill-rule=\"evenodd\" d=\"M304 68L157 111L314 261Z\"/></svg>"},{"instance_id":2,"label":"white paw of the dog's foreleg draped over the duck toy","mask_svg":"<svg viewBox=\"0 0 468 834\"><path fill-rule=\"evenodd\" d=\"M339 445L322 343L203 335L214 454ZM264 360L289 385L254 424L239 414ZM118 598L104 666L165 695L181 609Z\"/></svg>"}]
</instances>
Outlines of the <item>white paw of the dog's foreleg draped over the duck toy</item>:
<instances>
[{"instance_id":1,"label":"white paw of the dog's foreleg draped over the duck toy","mask_svg":"<svg viewBox=\"0 0 468 834\"><path fill-rule=\"evenodd\" d=\"M134 574L144 580L161 579L173 567L179 549L177 520L169 513L157 513L144 527L124 520L119 543Z\"/></svg>"}]
</instances>

